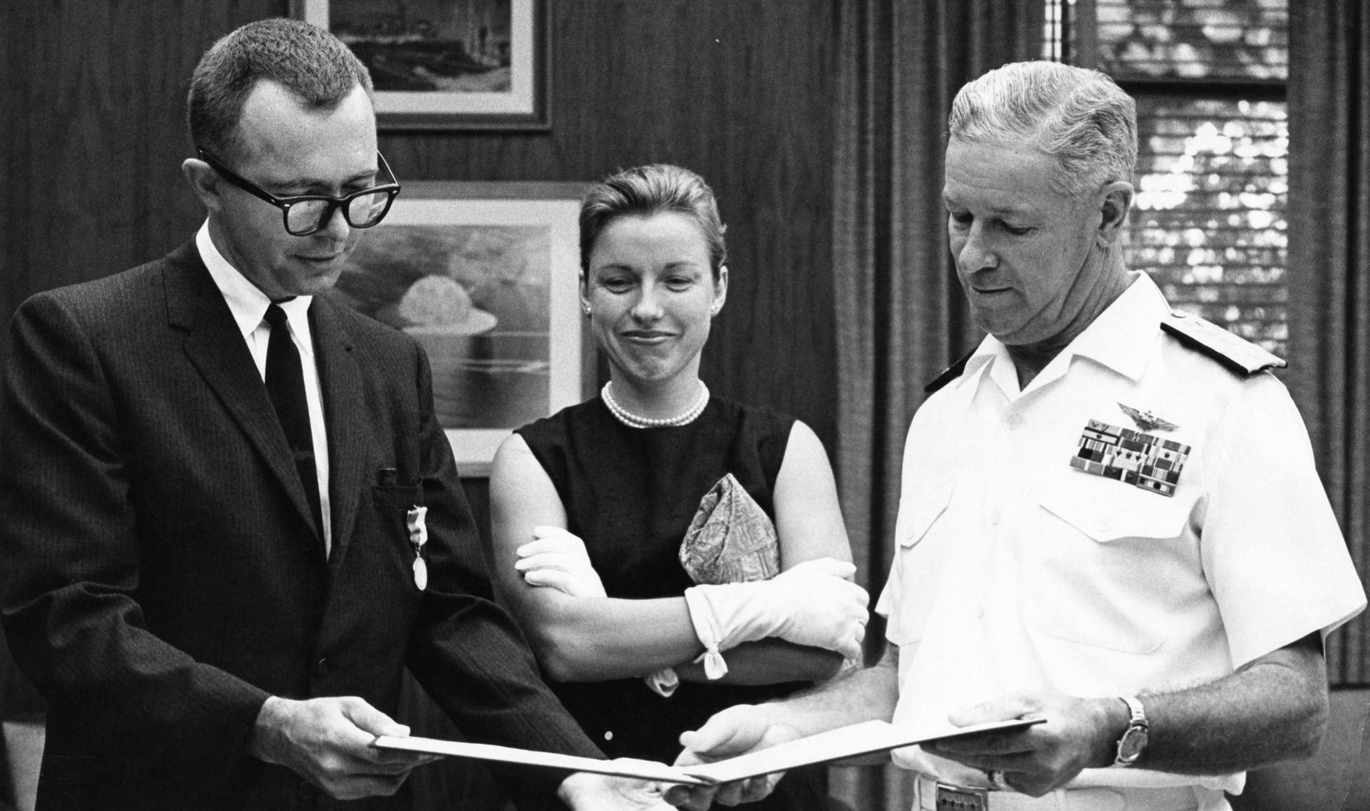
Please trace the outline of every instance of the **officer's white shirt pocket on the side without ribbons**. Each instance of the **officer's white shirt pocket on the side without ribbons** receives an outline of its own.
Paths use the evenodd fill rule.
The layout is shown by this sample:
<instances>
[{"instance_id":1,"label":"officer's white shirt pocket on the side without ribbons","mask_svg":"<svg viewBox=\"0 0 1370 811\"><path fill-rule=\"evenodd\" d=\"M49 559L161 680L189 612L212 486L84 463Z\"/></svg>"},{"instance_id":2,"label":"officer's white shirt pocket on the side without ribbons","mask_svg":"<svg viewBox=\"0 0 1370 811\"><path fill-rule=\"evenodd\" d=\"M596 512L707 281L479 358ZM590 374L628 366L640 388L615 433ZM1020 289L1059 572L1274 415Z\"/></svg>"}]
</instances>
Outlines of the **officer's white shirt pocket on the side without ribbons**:
<instances>
[{"instance_id":1,"label":"officer's white shirt pocket on the side without ribbons","mask_svg":"<svg viewBox=\"0 0 1370 811\"><path fill-rule=\"evenodd\" d=\"M955 490L955 479L948 479L911 490L900 504L899 523L895 527L899 542L895 551L897 579L892 578L886 586L896 592L891 595L889 625L885 630L885 636L896 645L911 645L923 637L923 626L927 623L951 541L947 508ZM900 663L911 660L912 658L906 656Z\"/></svg>"}]
</instances>

